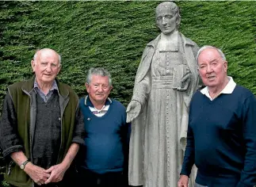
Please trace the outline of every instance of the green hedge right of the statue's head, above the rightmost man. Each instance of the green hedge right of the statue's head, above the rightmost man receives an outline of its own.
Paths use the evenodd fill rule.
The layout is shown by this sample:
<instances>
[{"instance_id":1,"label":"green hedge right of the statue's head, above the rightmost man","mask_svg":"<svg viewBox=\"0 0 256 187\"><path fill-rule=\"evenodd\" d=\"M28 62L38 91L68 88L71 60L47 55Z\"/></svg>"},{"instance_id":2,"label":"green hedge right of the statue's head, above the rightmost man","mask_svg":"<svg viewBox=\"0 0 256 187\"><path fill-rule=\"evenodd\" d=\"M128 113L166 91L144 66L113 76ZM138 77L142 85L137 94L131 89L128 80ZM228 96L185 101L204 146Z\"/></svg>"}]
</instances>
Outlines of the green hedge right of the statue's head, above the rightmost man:
<instances>
[{"instance_id":1,"label":"green hedge right of the statue's head, above the rightmost man","mask_svg":"<svg viewBox=\"0 0 256 187\"><path fill-rule=\"evenodd\" d=\"M185 36L192 36L201 46L221 48L228 74L255 94L256 2L182 2L180 6L183 23L187 23L181 25Z\"/></svg>"}]
</instances>

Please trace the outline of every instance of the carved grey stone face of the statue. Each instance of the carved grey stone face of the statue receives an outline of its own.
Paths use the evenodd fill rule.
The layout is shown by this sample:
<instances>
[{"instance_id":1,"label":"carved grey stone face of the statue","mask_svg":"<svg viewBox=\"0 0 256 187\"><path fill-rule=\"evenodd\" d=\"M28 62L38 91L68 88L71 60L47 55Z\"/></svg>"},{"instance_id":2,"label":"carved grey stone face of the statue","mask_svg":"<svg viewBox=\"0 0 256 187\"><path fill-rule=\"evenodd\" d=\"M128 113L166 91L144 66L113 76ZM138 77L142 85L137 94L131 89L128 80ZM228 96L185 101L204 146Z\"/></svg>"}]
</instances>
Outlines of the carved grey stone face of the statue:
<instances>
[{"instance_id":1,"label":"carved grey stone face of the statue","mask_svg":"<svg viewBox=\"0 0 256 187\"><path fill-rule=\"evenodd\" d=\"M176 29L177 13L173 13L170 7L162 6L156 10L156 23L161 32L169 35Z\"/></svg>"}]
</instances>

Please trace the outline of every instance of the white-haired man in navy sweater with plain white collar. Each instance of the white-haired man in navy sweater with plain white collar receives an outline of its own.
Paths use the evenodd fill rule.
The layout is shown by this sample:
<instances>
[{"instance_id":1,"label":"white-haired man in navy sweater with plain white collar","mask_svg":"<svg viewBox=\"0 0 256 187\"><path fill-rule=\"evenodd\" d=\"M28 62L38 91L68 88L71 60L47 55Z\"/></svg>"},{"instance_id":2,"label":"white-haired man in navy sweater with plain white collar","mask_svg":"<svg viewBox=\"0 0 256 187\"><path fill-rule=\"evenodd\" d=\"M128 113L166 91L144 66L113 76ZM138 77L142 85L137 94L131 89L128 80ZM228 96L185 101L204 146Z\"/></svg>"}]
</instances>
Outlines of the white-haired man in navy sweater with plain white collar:
<instances>
[{"instance_id":1,"label":"white-haired man in navy sweater with plain white collar","mask_svg":"<svg viewBox=\"0 0 256 187\"><path fill-rule=\"evenodd\" d=\"M204 89L190 103L187 146L178 187L187 187L195 163L198 187L256 185L256 99L227 76L218 48L197 53Z\"/></svg>"}]
</instances>

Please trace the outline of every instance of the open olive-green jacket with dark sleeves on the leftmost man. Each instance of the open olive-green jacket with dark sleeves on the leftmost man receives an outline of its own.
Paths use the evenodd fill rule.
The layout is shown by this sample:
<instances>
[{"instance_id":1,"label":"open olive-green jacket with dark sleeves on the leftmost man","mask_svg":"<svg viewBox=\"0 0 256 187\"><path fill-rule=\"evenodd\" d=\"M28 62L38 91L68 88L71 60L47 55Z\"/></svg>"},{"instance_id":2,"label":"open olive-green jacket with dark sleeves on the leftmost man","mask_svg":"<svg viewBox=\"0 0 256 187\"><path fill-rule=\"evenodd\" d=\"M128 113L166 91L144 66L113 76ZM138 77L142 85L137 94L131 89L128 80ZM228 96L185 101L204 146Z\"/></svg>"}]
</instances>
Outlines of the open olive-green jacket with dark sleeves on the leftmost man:
<instances>
[{"instance_id":1,"label":"open olive-green jacket with dark sleeves on the leftmost man","mask_svg":"<svg viewBox=\"0 0 256 187\"><path fill-rule=\"evenodd\" d=\"M6 158L5 179L21 187L33 186L33 181L10 158L15 151L23 151L32 162L32 143L36 126L35 76L8 86L0 121L0 145ZM71 143L83 144L83 118L78 107L78 96L70 86L56 80L59 88L61 112L61 143L57 164L63 161Z\"/></svg>"}]
</instances>

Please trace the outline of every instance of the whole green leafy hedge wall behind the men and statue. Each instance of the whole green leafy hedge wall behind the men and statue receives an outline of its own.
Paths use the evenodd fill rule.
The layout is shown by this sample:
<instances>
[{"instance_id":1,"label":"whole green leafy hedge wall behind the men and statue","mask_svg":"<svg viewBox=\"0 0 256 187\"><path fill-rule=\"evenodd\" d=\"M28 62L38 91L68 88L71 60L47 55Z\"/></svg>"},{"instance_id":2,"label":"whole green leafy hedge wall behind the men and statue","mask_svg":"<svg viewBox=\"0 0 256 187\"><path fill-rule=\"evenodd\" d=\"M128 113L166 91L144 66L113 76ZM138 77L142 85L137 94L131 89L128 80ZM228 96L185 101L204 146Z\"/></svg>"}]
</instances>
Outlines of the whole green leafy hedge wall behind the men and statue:
<instances>
[{"instance_id":1,"label":"whole green leafy hedge wall behind the men and statue","mask_svg":"<svg viewBox=\"0 0 256 187\"><path fill-rule=\"evenodd\" d=\"M199 46L224 51L228 74L256 93L256 2L178 1L181 32ZM31 77L38 48L62 55L59 79L79 97L86 94L86 72L106 67L113 75L111 97L128 104L146 44L159 35L155 1L1 1L0 109L6 86Z\"/></svg>"}]
</instances>

